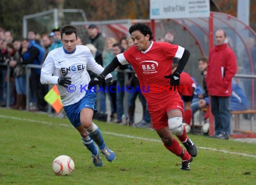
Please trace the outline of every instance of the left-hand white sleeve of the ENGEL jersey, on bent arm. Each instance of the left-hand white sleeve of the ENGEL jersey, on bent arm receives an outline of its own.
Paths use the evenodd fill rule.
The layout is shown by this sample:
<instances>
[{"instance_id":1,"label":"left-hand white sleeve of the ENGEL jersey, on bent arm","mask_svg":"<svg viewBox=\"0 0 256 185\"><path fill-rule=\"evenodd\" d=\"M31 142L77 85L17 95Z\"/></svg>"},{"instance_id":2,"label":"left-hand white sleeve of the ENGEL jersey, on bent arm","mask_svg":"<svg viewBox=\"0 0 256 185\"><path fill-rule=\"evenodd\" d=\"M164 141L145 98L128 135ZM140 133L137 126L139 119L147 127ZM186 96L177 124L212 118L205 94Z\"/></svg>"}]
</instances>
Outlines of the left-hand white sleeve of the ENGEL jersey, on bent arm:
<instances>
[{"instance_id":1,"label":"left-hand white sleeve of the ENGEL jersey, on bent arm","mask_svg":"<svg viewBox=\"0 0 256 185\"><path fill-rule=\"evenodd\" d=\"M41 84L58 84L58 76L53 76L55 69L53 58L48 55L41 69L40 82Z\"/></svg>"}]
</instances>

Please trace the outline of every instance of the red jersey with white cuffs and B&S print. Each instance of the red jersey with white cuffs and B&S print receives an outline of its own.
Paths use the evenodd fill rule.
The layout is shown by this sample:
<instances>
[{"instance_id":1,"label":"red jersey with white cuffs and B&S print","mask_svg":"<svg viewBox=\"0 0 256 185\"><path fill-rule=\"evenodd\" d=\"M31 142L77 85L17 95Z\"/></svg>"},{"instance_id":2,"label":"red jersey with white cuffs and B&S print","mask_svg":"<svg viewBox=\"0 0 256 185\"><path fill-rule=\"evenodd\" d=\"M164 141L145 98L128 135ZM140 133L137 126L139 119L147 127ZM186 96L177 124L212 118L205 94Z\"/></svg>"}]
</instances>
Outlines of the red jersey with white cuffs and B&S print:
<instances>
[{"instance_id":1,"label":"red jersey with white cuffs and B&S print","mask_svg":"<svg viewBox=\"0 0 256 185\"><path fill-rule=\"evenodd\" d=\"M131 64L134 68L143 96L149 105L157 105L174 96L170 91L170 79L164 78L172 72L173 57L181 58L184 48L166 42L151 42L146 51L132 46L117 55L121 64Z\"/></svg>"}]
</instances>

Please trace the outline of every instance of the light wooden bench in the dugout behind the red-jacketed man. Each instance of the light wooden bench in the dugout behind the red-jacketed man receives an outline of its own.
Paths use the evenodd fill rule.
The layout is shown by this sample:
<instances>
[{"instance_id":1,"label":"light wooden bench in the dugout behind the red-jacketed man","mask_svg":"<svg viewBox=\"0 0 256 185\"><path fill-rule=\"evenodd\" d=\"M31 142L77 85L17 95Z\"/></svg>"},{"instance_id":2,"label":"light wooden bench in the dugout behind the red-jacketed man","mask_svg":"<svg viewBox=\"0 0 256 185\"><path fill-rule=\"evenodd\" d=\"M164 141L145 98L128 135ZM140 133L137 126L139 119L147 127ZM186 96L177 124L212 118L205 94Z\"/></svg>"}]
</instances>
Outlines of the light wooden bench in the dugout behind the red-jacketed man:
<instances>
[{"instance_id":1,"label":"light wooden bench in the dugout behind the red-jacketed man","mask_svg":"<svg viewBox=\"0 0 256 185\"><path fill-rule=\"evenodd\" d=\"M207 111L207 107L201 108L199 111ZM201 115L201 112L199 113ZM256 110L231 110L230 111L231 115L234 115L234 129L233 132L243 132L245 134L250 134L250 133L255 133L252 131L252 122L253 122L253 117L254 115L256 115ZM246 115L249 114L251 115L251 122L250 122L250 131L244 131L244 130L240 130L240 123L239 123L239 117L240 115ZM199 116L199 119L201 119L201 116ZM200 124L201 124L201 120ZM194 126L194 123L192 123L192 125Z\"/></svg>"}]
</instances>

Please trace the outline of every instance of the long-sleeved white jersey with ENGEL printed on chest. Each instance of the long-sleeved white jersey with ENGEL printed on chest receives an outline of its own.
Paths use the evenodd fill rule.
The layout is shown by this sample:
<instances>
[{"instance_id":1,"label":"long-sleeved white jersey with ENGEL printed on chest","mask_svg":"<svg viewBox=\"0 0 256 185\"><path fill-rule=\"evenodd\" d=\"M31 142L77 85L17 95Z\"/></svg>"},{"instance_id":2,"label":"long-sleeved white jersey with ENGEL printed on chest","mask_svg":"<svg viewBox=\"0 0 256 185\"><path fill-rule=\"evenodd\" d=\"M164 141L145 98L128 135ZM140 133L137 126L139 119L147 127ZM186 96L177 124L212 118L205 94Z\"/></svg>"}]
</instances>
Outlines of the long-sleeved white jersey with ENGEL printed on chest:
<instances>
[{"instance_id":1,"label":"long-sleeved white jersey with ENGEL printed on chest","mask_svg":"<svg viewBox=\"0 0 256 185\"><path fill-rule=\"evenodd\" d=\"M74 53L65 53L64 48L56 48L49 52L41 69L40 81L42 84L58 84L58 78L62 73L68 72L71 77L71 85L64 88L58 85L63 106L72 105L81 100L90 82L88 70L97 75L101 74L104 68L95 62L89 48L84 45L77 45ZM107 75L105 79L112 77Z\"/></svg>"}]
</instances>

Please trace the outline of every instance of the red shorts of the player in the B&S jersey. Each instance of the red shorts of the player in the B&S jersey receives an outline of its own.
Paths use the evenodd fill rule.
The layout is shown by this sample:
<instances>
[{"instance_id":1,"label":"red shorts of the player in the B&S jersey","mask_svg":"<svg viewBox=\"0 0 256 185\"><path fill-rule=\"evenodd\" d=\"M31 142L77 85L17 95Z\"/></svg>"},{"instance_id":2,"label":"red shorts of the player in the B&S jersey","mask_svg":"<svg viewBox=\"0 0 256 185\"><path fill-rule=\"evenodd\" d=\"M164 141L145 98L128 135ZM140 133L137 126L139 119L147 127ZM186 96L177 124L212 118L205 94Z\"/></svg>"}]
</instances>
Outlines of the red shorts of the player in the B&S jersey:
<instances>
[{"instance_id":1,"label":"red shorts of the player in the B&S jersey","mask_svg":"<svg viewBox=\"0 0 256 185\"><path fill-rule=\"evenodd\" d=\"M183 101L178 93L173 94L158 105L148 105L152 128L159 130L168 126L168 112L173 109L181 110L182 117L184 117Z\"/></svg>"}]
</instances>

